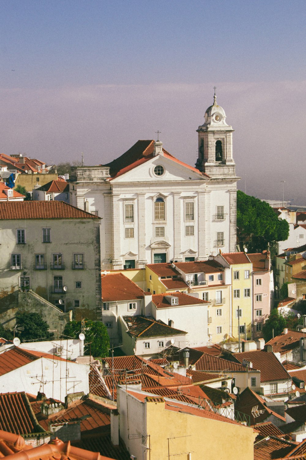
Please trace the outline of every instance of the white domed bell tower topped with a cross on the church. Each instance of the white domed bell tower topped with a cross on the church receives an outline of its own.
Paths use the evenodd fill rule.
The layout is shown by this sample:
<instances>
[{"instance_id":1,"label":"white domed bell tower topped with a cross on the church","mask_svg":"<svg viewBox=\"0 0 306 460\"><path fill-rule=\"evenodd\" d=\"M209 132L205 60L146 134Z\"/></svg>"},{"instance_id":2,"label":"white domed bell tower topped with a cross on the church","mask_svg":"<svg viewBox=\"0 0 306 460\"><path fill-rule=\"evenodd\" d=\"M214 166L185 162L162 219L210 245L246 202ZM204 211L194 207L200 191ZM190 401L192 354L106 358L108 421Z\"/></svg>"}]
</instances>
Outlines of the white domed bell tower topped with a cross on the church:
<instances>
[{"instance_id":1,"label":"white domed bell tower topped with a cross on the church","mask_svg":"<svg viewBox=\"0 0 306 460\"><path fill-rule=\"evenodd\" d=\"M204 115L205 122L196 130L198 133L199 156L195 166L211 178L234 178L233 128L225 119L222 107L217 105L216 88L214 102Z\"/></svg>"}]
</instances>

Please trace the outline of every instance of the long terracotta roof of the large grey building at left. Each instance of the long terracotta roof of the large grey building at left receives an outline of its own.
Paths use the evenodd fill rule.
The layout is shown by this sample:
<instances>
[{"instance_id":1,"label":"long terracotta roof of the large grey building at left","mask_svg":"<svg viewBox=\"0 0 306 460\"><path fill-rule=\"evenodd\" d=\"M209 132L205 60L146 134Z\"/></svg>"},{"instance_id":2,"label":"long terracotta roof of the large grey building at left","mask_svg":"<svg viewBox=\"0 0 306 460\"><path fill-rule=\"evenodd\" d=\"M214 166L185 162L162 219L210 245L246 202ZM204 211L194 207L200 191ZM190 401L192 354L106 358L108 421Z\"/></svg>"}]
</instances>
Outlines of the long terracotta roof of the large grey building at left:
<instances>
[{"instance_id":1,"label":"long terracotta roof of the large grey building at left","mask_svg":"<svg viewBox=\"0 0 306 460\"><path fill-rule=\"evenodd\" d=\"M0 220L100 219L64 201L6 201L0 203Z\"/></svg>"}]
</instances>

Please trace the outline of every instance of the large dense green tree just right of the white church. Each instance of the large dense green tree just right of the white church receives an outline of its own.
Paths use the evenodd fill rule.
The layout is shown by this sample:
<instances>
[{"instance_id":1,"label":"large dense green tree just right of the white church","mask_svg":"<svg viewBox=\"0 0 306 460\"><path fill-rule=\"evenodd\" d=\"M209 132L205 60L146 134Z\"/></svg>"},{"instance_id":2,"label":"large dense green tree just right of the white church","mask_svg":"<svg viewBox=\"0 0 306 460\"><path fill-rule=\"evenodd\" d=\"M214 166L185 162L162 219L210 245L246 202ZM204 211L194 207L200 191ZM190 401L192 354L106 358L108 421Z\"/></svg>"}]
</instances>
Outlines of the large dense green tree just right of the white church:
<instances>
[{"instance_id":1,"label":"large dense green tree just right of the white church","mask_svg":"<svg viewBox=\"0 0 306 460\"><path fill-rule=\"evenodd\" d=\"M273 208L266 201L245 195L237 190L237 236L240 251L244 247L251 252L261 252L277 241L284 241L289 235L289 224L278 219Z\"/></svg>"}]
</instances>

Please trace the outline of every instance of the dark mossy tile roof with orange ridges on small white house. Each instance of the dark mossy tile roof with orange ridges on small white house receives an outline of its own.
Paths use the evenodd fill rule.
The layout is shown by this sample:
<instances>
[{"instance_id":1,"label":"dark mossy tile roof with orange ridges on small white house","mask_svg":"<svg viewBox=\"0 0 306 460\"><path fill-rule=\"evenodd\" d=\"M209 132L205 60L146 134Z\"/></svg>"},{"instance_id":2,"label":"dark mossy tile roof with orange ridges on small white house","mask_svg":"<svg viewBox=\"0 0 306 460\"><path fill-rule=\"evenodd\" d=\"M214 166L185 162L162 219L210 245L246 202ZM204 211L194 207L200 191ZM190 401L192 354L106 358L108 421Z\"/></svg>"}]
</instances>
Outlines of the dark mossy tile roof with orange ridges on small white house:
<instances>
[{"instance_id":1,"label":"dark mossy tile roof with orange ridges on small white house","mask_svg":"<svg viewBox=\"0 0 306 460\"><path fill-rule=\"evenodd\" d=\"M128 334L133 337L170 337L172 335L184 335L185 331L172 328L161 320L146 318L145 316L123 316L128 325Z\"/></svg>"}]
</instances>

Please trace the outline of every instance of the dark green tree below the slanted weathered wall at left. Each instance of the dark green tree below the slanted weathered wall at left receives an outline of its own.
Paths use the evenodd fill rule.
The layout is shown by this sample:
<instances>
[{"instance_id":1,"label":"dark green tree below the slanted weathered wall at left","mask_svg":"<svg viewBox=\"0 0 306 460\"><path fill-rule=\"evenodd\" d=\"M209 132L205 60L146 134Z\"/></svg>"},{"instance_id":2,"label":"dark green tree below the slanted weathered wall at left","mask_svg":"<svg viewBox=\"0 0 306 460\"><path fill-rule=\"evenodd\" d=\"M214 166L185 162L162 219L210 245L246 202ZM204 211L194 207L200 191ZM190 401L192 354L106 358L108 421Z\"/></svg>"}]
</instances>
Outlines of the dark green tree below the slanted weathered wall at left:
<instances>
[{"instance_id":1,"label":"dark green tree below the slanted weathered wall at left","mask_svg":"<svg viewBox=\"0 0 306 460\"><path fill-rule=\"evenodd\" d=\"M18 312L16 324L24 328L23 331L17 331L15 334L20 340L50 340L54 337L54 334L49 332L48 323L38 313Z\"/></svg>"}]
</instances>

